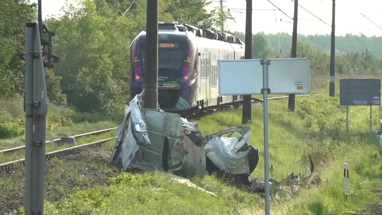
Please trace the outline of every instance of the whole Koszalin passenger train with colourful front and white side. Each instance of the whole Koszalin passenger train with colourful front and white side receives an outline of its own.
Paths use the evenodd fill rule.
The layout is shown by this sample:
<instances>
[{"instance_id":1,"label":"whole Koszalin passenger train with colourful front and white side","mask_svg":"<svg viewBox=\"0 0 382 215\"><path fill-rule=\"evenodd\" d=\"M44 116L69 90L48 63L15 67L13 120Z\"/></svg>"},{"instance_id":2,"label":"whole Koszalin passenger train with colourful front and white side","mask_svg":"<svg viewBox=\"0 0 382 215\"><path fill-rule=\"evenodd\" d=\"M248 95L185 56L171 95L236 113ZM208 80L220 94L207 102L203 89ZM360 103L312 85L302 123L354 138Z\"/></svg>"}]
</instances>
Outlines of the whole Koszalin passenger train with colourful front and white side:
<instances>
[{"instance_id":1,"label":"whole Koszalin passenger train with colourful front and white side","mask_svg":"<svg viewBox=\"0 0 382 215\"><path fill-rule=\"evenodd\" d=\"M130 46L130 100L140 94L146 78L146 32ZM230 34L188 24L158 24L158 104L182 116L237 107L242 96L220 96L218 60L244 59L245 44ZM235 71L232 71L235 72Z\"/></svg>"}]
</instances>

